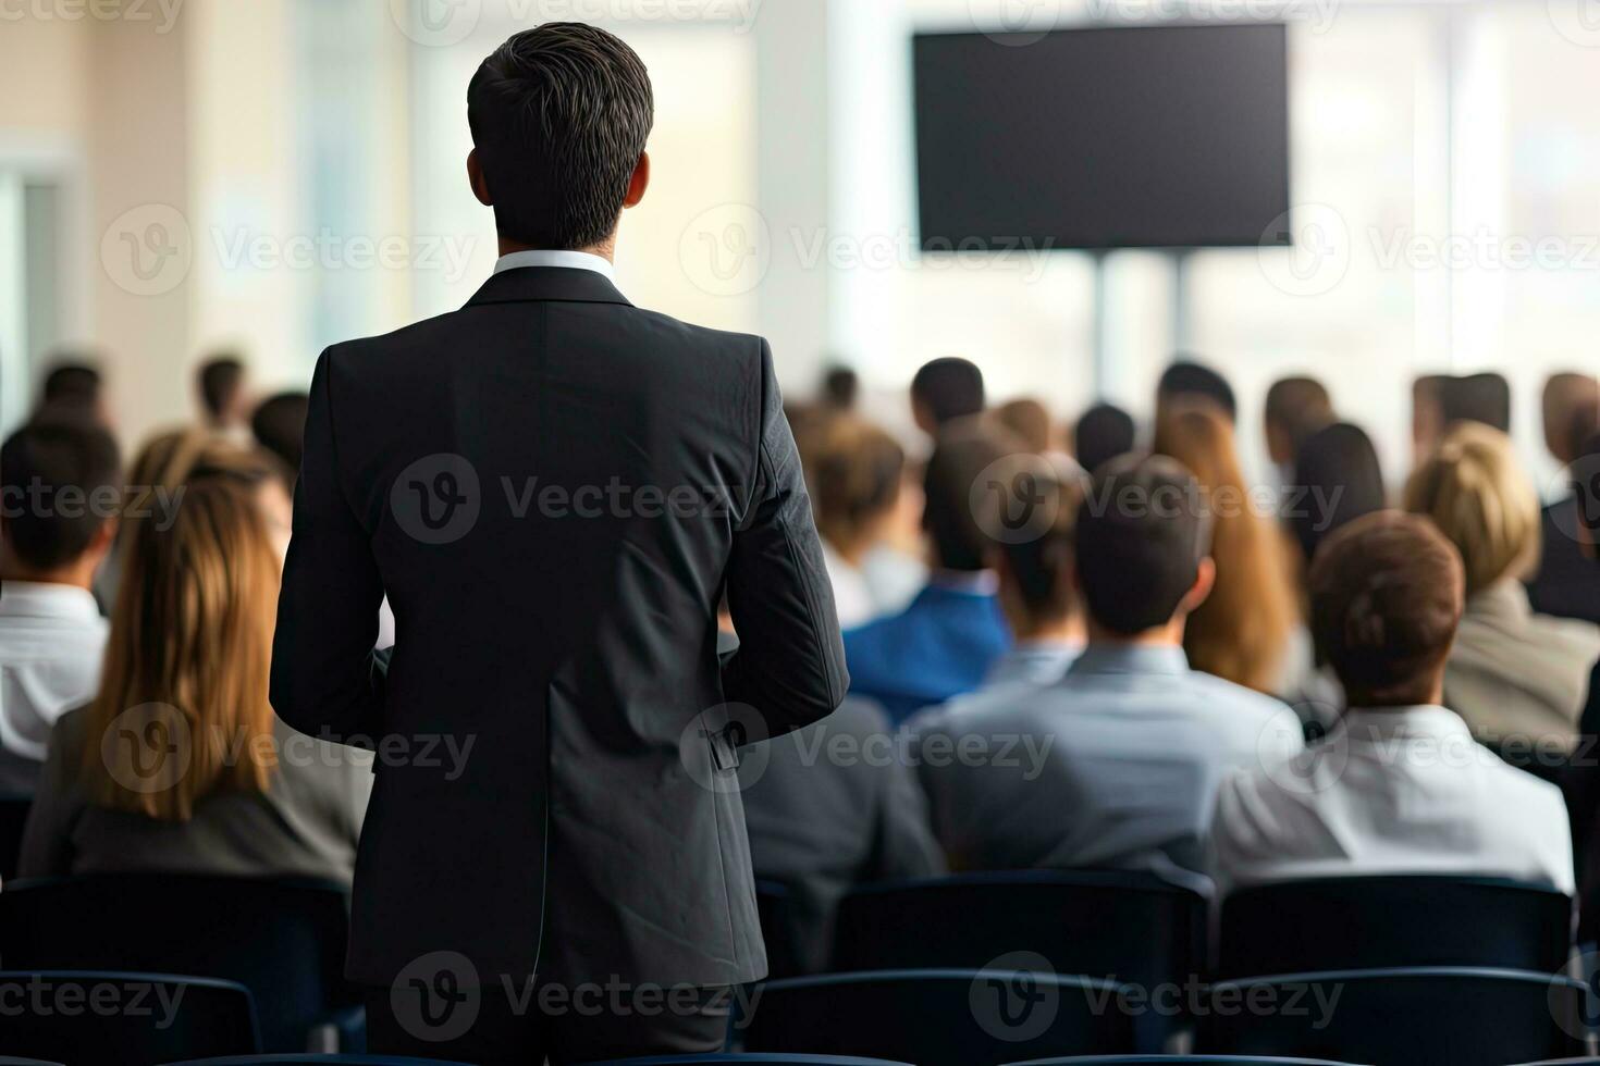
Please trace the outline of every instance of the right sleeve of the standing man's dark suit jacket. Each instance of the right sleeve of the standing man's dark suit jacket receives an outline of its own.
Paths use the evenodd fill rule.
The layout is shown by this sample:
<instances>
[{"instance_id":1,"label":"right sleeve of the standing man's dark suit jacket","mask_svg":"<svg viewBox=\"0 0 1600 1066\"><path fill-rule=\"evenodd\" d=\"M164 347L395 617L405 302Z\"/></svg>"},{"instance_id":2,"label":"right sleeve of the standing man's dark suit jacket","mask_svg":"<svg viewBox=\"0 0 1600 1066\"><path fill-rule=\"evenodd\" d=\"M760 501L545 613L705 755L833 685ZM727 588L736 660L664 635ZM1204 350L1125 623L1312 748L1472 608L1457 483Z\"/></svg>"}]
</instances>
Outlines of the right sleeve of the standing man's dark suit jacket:
<instances>
[{"instance_id":1,"label":"right sleeve of the standing man's dark suit jacket","mask_svg":"<svg viewBox=\"0 0 1600 1066\"><path fill-rule=\"evenodd\" d=\"M723 662L722 681L728 702L742 705L730 708L742 743L826 718L850 687L822 543L765 340L760 374L754 484L726 574L739 650Z\"/></svg>"}]
</instances>

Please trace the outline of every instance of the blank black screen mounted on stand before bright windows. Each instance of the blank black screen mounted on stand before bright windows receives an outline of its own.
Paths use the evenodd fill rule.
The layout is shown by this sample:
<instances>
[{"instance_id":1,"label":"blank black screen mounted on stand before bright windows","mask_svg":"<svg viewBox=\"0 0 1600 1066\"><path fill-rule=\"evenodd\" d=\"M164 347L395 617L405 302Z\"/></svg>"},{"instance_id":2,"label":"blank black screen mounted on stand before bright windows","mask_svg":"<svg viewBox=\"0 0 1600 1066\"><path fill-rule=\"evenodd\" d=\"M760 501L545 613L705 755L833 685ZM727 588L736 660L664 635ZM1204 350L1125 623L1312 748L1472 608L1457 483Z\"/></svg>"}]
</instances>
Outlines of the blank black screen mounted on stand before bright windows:
<instances>
[{"instance_id":1,"label":"blank black screen mounted on stand before bright windows","mask_svg":"<svg viewBox=\"0 0 1600 1066\"><path fill-rule=\"evenodd\" d=\"M1278 24L917 35L922 246L1286 243L1285 40Z\"/></svg>"}]
</instances>

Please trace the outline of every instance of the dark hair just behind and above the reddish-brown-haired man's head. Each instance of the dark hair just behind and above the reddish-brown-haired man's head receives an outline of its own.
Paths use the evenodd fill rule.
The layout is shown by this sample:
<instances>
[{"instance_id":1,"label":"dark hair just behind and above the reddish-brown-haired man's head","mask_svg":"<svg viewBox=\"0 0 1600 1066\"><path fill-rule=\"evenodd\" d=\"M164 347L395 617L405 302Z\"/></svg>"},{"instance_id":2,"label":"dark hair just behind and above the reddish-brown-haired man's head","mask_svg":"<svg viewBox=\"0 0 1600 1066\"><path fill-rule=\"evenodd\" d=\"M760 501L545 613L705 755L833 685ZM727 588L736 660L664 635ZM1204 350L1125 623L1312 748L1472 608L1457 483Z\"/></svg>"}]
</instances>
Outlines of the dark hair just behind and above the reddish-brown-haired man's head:
<instances>
[{"instance_id":1,"label":"dark hair just behind and above the reddish-brown-haired man's head","mask_svg":"<svg viewBox=\"0 0 1600 1066\"><path fill-rule=\"evenodd\" d=\"M1378 449L1349 422L1334 422L1301 444L1293 481L1288 524L1307 564L1333 531L1389 505Z\"/></svg>"}]
</instances>

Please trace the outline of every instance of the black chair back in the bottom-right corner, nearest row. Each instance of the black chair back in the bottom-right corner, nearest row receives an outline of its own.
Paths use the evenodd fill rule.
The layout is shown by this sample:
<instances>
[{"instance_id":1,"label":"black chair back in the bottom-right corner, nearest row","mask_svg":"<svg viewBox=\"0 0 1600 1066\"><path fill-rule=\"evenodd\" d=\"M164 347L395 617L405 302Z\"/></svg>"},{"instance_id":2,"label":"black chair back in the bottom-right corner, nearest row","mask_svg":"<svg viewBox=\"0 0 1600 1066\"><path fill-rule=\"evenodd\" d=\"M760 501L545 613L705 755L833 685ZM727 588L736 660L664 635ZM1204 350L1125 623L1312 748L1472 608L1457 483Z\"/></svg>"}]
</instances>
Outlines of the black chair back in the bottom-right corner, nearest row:
<instances>
[{"instance_id":1,"label":"black chair back in the bottom-right corner, nearest row","mask_svg":"<svg viewBox=\"0 0 1600 1066\"><path fill-rule=\"evenodd\" d=\"M1195 1050L1370 1066L1506 1066L1582 1055L1584 986L1517 970L1290 973L1211 988Z\"/></svg>"}]
</instances>

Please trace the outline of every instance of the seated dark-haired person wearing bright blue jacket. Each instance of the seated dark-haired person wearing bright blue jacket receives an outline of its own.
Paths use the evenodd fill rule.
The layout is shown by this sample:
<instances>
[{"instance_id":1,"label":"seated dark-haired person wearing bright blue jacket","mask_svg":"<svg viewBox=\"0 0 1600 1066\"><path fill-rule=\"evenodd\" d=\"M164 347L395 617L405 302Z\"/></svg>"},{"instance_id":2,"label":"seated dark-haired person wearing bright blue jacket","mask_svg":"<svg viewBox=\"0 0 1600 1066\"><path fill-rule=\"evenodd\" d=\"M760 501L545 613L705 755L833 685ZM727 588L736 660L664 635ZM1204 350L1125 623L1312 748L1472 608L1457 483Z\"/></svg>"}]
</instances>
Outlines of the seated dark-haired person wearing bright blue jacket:
<instances>
[{"instance_id":1,"label":"seated dark-haired person wearing bright blue jacket","mask_svg":"<svg viewBox=\"0 0 1600 1066\"><path fill-rule=\"evenodd\" d=\"M989 569L992 540L973 511L984 471L1026 446L979 419L939 435L923 478L923 529L933 550L928 585L906 611L845 633L851 692L875 700L894 724L971 692L1011 647Z\"/></svg>"}]
</instances>

